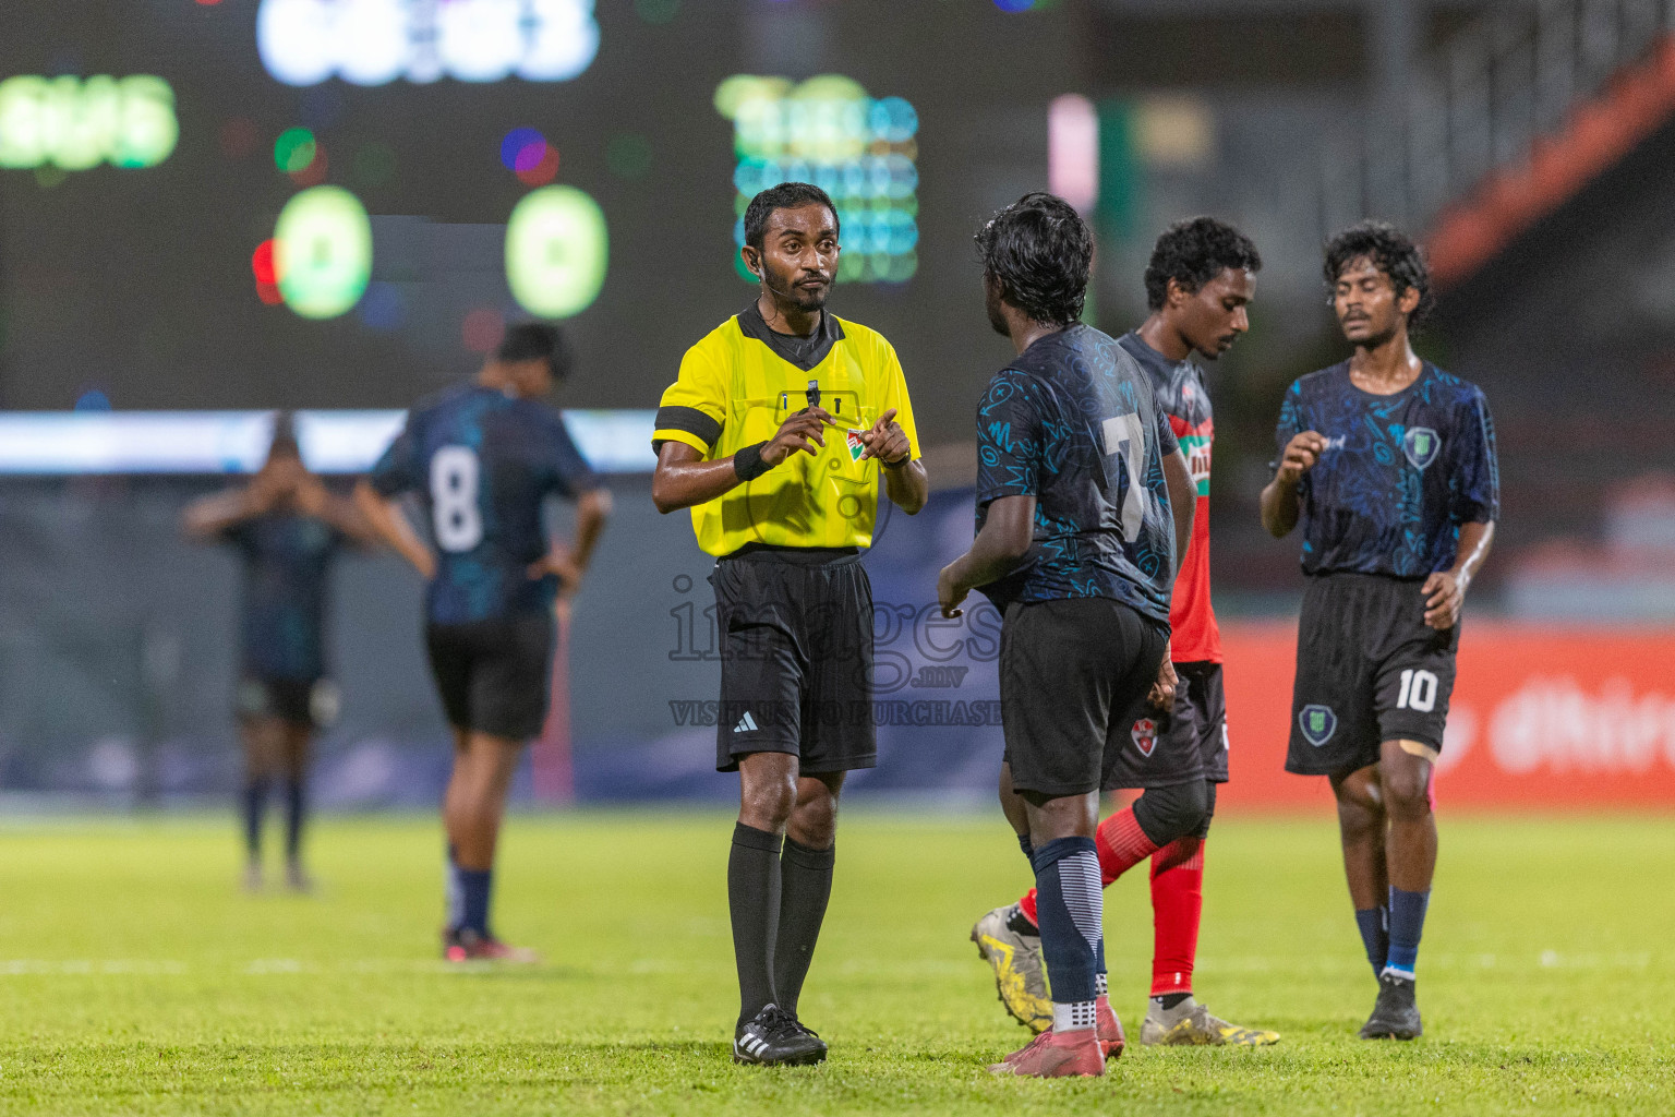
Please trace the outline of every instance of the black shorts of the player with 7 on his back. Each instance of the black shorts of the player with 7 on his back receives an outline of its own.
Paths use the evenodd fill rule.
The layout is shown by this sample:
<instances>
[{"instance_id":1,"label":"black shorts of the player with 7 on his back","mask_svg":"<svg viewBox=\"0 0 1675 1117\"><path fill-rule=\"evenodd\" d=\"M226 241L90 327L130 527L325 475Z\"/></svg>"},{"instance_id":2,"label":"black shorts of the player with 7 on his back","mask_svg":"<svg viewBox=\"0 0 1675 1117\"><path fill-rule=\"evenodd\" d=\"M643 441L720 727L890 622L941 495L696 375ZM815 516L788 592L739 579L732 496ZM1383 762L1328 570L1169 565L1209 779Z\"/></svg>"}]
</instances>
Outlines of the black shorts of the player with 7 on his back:
<instances>
[{"instance_id":1,"label":"black shorts of the player with 7 on his back","mask_svg":"<svg viewBox=\"0 0 1675 1117\"><path fill-rule=\"evenodd\" d=\"M1144 717L1167 643L1167 625L1111 598L1008 605L1000 722L1012 787L1042 795L1099 790L1106 757L1132 747L1131 730Z\"/></svg>"}]
</instances>

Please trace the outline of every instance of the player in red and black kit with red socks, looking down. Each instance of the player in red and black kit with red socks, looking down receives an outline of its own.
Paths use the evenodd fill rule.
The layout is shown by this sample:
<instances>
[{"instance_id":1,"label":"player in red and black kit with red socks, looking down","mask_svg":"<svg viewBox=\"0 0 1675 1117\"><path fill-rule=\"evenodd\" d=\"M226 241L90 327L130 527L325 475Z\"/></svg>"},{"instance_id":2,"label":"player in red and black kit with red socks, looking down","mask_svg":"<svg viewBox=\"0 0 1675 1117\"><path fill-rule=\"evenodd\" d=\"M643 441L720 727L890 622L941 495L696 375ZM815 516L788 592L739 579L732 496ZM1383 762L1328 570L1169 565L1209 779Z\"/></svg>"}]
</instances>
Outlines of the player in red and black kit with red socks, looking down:
<instances>
[{"instance_id":1,"label":"player in red and black kit with red socks, looking down","mask_svg":"<svg viewBox=\"0 0 1675 1117\"><path fill-rule=\"evenodd\" d=\"M1174 707L1134 720L1106 752L1104 790L1146 789L1099 824L1099 878L1111 886L1151 857L1152 981L1141 1043L1273 1043L1275 1032L1231 1025L1193 998L1198 928L1204 909L1204 839L1216 785L1228 782L1228 725L1221 690L1221 630L1209 605L1209 450L1214 422L1204 370L1250 328L1261 256L1250 238L1214 218L1172 224L1146 268L1151 317L1117 343L1146 370L1157 407L1181 440L1198 486L1193 546L1169 605ZM1037 893L995 908L972 941L995 970L1007 1010L1040 1032L1052 1001L1040 961Z\"/></svg>"}]
</instances>

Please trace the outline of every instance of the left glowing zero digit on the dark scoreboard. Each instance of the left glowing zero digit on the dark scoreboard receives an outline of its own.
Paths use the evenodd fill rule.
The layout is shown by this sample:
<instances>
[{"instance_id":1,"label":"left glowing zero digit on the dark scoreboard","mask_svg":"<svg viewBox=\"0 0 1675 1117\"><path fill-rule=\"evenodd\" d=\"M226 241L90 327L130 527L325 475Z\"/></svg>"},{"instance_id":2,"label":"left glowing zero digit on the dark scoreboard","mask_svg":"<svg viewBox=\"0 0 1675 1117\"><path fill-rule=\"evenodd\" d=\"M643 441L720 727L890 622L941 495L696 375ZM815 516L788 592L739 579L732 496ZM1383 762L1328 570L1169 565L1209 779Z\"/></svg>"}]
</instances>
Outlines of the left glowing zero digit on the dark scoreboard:
<instances>
[{"instance_id":1,"label":"left glowing zero digit on the dark scoreboard","mask_svg":"<svg viewBox=\"0 0 1675 1117\"><path fill-rule=\"evenodd\" d=\"M372 221L340 186L291 198L273 229L273 266L285 305L303 318L348 313L372 280Z\"/></svg>"}]
</instances>

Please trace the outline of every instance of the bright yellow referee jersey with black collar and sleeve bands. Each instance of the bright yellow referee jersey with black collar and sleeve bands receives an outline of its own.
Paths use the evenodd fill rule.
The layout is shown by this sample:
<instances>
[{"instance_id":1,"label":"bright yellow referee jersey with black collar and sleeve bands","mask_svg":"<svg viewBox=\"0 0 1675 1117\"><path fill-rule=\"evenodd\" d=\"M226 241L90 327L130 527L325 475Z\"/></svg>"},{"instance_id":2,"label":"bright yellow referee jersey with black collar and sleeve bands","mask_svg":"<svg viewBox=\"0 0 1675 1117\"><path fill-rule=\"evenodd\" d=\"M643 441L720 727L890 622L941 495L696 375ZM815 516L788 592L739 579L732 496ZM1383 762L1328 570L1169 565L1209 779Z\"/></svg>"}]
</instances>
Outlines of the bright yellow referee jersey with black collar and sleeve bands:
<instances>
[{"instance_id":1,"label":"bright yellow referee jersey with black collar and sleeve bands","mask_svg":"<svg viewBox=\"0 0 1675 1117\"><path fill-rule=\"evenodd\" d=\"M920 437L896 350L874 330L831 311L809 338L774 333L752 301L687 350L680 377L657 409L652 449L685 442L705 461L767 442L809 404L809 382L838 427L819 456L794 452L779 466L692 509L698 546L732 554L750 543L789 548L868 548L878 517L876 457L859 432L896 409L913 457Z\"/></svg>"}]
</instances>

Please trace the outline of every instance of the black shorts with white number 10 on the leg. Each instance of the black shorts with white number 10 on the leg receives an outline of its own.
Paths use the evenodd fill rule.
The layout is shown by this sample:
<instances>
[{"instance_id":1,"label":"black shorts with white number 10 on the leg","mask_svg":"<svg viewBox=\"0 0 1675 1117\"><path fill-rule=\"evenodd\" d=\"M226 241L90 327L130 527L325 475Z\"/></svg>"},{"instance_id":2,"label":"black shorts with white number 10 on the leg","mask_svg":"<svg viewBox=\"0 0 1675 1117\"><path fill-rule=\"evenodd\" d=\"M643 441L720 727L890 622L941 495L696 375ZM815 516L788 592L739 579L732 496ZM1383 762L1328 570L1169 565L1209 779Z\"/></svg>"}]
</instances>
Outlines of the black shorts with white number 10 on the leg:
<instances>
[{"instance_id":1,"label":"black shorts with white number 10 on the leg","mask_svg":"<svg viewBox=\"0 0 1675 1117\"><path fill-rule=\"evenodd\" d=\"M1385 740L1442 750L1461 630L1425 625L1422 584L1348 573L1308 579L1286 772L1353 772L1377 764Z\"/></svg>"}]
</instances>

